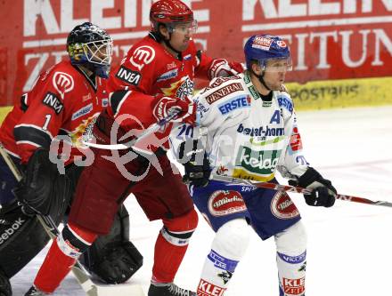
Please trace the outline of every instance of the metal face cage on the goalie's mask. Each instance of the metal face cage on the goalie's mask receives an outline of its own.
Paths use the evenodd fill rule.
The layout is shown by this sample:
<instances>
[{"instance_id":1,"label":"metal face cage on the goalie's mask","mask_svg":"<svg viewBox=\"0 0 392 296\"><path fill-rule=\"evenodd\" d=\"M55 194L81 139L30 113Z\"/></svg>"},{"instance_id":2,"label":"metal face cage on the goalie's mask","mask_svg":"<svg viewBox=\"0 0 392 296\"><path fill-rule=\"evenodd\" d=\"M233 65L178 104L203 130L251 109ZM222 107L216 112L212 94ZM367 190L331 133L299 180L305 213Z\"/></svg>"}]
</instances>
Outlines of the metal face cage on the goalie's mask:
<instances>
[{"instance_id":1,"label":"metal face cage on the goalie's mask","mask_svg":"<svg viewBox=\"0 0 392 296\"><path fill-rule=\"evenodd\" d=\"M98 40L83 44L86 58L93 64L110 66L111 54L113 53L113 40Z\"/></svg>"}]
</instances>

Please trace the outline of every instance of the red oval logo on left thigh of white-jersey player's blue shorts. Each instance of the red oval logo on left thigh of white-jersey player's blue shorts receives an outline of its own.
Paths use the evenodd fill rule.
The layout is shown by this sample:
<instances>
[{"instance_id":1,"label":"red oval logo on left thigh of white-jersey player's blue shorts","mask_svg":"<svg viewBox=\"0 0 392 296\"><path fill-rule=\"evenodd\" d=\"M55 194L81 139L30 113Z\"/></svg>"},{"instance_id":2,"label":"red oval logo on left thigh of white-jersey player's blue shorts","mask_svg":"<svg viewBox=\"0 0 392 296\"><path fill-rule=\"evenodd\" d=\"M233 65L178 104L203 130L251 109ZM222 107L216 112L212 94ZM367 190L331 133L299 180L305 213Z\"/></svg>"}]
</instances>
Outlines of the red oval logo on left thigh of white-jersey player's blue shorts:
<instances>
[{"instance_id":1,"label":"red oval logo on left thigh of white-jersey player's blue shorts","mask_svg":"<svg viewBox=\"0 0 392 296\"><path fill-rule=\"evenodd\" d=\"M216 217L244 212L246 209L242 196L237 191L217 190L208 199L208 211Z\"/></svg>"}]
</instances>

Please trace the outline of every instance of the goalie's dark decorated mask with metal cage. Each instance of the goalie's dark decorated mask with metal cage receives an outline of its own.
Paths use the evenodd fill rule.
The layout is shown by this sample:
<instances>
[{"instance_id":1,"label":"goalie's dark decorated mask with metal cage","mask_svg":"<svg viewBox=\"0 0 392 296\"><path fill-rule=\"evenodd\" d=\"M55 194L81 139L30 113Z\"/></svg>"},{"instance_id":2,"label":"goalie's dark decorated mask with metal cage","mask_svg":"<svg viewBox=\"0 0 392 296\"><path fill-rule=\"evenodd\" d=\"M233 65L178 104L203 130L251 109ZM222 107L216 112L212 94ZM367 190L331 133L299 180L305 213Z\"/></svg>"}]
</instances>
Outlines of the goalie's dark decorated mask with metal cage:
<instances>
[{"instance_id":1,"label":"goalie's dark decorated mask with metal cage","mask_svg":"<svg viewBox=\"0 0 392 296\"><path fill-rule=\"evenodd\" d=\"M72 65L83 65L102 78L109 77L113 41L105 30L91 22L75 27L67 38Z\"/></svg>"}]
</instances>

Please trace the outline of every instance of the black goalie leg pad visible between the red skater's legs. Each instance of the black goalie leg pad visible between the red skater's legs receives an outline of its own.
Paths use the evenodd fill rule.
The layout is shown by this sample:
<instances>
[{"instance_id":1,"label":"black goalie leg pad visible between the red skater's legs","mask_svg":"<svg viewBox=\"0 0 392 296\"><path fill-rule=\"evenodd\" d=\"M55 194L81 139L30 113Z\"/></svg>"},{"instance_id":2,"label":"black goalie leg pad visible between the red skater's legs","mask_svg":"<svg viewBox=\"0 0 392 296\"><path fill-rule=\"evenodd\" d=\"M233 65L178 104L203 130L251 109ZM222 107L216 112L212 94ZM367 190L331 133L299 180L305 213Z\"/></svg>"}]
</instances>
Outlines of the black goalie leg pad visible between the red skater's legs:
<instances>
[{"instance_id":1,"label":"black goalie leg pad visible between the red skater's legs","mask_svg":"<svg viewBox=\"0 0 392 296\"><path fill-rule=\"evenodd\" d=\"M142 267L142 254L129 242L129 215L124 205L119 207L110 233L99 236L81 259L94 276L107 284L126 282Z\"/></svg>"}]
</instances>

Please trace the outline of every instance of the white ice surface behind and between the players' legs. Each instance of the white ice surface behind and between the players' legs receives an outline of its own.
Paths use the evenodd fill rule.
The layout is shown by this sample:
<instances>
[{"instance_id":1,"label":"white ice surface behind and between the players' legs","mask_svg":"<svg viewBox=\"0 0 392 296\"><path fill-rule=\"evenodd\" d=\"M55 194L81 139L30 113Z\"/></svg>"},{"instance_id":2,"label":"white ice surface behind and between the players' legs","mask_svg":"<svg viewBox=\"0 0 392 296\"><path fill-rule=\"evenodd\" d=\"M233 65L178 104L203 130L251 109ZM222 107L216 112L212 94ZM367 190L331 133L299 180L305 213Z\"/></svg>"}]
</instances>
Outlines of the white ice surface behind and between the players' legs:
<instances>
[{"instance_id":1,"label":"white ice surface behind and between the players' legs","mask_svg":"<svg viewBox=\"0 0 392 296\"><path fill-rule=\"evenodd\" d=\"M298 112L306 159L331 179L339 193L392 202L392 107ZM307 206L291 195L307 228L307 296L391 295L392 208L337 201L330 209ZM135 198L127 209L131 239L143 252L144 265L130 280L147 292L153 246L161 227L149 222ZM176 284L195 290L214 233L200 217ZM32 284L47 248L12 278L14 295ZM278 295L274 239L255 234L233 276L227 296ZM55 295L84 295L69 275ZM131 295L130 295L131 296Z\"/></svg>"}]
</instances>

